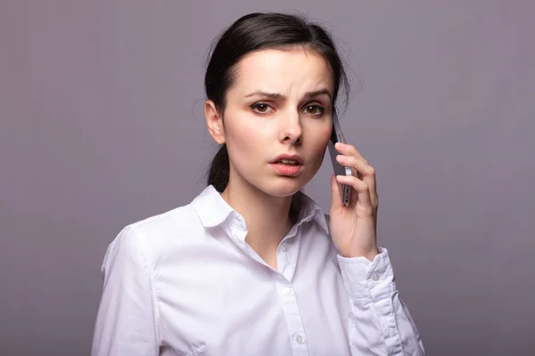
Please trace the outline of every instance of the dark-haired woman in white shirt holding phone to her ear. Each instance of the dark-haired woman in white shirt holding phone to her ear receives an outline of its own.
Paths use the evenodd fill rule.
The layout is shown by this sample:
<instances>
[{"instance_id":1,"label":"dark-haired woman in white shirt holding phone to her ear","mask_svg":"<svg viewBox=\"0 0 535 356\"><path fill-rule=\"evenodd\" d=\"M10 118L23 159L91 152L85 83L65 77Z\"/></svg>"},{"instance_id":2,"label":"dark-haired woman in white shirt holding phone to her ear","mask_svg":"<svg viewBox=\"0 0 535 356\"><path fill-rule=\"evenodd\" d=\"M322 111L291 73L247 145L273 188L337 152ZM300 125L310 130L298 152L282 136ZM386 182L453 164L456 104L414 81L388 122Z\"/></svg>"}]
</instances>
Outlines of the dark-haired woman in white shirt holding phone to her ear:
<instances>
[{"instance_id":1,"label":"dark-haired woman in white shirt holding phone to her ear","mask_svg":"<svg viewBox=\"0 0 535 356\"><path fill-rule=\"evenodd\" d=\"M221 144L209 185L111 243L93 355L424 354L377 247L374 168L337 144L354 175L333 175L330 214L300 192L342 85L331 36L299 17L252 13L220 36L205 77Z\"/></svg>"}]
</instances>

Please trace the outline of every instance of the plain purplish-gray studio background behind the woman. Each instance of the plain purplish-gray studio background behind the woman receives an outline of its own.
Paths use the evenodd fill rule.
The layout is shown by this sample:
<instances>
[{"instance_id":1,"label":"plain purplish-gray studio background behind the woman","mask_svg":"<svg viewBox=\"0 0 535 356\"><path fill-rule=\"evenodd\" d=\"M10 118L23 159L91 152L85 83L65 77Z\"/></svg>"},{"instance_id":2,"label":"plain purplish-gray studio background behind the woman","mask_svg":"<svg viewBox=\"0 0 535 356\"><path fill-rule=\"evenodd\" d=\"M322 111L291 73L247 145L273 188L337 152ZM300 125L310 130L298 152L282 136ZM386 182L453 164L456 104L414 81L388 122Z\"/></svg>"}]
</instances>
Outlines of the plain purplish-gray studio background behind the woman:
<instances>
[{"instance_id":1,"label":"plain purplish-gray studio background behind the woman","mask_svg":"<svg viewBox=\"0 0 535 356\"><path fill-rule=\"evenodd\" d=\"M205 56L254 11L338 39L428 354L532 354L535 4L473 0L1 0L0 354L89 353L106 247L204 186ZM306 190L325 210L330 173Z\"/></svg>"}]
</instances>

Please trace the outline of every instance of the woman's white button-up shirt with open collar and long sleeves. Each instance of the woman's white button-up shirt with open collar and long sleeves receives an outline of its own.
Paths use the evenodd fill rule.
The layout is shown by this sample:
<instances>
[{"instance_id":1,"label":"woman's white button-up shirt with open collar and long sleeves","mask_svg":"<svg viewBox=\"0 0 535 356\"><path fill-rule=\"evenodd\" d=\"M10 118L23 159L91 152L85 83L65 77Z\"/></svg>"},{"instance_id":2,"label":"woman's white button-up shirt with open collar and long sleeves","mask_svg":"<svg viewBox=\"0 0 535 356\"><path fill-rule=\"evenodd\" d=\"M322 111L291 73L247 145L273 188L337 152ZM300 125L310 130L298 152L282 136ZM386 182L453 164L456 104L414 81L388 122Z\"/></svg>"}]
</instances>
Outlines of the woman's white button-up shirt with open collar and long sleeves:
<instances>
[{"instance_id":1,"label":"woman's white button-up shirt with open collar and long sleeves","mask_svg":"<svg viewBox=\"0 0 535 356\"><path fill-rule=\"evenodd\" d=\"M388 251L344 258L305 196L277 270L213 186L120 231L103 262L93 356L424 355Z\"/></svg>"}]
</instances>

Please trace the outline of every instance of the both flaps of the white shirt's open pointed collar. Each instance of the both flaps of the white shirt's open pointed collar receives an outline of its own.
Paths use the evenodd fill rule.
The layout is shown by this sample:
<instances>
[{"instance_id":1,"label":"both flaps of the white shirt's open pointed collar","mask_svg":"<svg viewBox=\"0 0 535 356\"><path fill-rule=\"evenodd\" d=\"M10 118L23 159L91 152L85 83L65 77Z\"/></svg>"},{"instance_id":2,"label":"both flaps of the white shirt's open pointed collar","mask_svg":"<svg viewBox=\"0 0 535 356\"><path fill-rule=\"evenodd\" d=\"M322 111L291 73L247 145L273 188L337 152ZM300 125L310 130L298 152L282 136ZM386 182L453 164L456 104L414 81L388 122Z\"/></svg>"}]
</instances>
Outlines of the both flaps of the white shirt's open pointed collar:
<instances>
[{"instance_id":1,"label":"both flaps of the white shirt's open pointed collar","mask_svg":"<svg viewBox=\"0 0 535 356\"><path fill-rule=\"evenodd\" d=\"M303 195L303 209L296 225L314 220L325 233L329 233L328 224L325 220L325 214L321 207L317 205L314 199L306 194ZM209 185L201 194L199 194L192 201L193 210L201 219L202 226L211 228L224 223L229 215L237 215L238 213L229 206L221 194L213 185Z\"/></svg>"}]
</instances>

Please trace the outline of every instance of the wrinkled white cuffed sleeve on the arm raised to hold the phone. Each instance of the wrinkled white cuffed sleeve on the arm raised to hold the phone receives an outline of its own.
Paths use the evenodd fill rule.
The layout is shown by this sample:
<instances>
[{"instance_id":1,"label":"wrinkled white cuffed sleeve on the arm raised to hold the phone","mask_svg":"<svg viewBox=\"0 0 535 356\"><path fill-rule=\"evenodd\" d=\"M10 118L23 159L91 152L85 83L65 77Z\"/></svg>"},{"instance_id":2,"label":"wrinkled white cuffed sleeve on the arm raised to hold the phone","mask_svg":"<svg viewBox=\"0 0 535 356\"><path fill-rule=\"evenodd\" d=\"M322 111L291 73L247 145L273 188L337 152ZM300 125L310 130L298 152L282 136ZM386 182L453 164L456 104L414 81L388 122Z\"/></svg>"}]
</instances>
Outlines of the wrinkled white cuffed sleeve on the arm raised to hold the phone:
<instances>
[{"instance_id":1,"label":"wrinkled white cuffed sleeve on the arm raised to hold the phone","mask_svg":"<svg viewBox=\"0 0 535 356\"><path fill-rule=\"evenodd\" d=\"M337 256L350 298L351 355L424 355L416 324L399 299L388 250L380 251L373 262Z\"/></svg>"}]
</instances>

